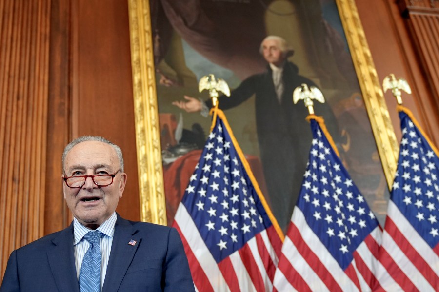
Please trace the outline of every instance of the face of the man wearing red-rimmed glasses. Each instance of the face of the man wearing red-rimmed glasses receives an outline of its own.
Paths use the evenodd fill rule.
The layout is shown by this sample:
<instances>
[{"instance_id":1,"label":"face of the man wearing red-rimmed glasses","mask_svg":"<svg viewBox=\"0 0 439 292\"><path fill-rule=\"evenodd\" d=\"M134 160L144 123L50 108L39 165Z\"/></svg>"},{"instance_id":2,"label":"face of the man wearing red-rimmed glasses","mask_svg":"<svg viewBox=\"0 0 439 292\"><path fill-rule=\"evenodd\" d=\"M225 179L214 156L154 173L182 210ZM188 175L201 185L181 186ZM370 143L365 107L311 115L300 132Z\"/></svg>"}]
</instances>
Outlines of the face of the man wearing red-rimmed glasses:
<instances>
[{"instance_id":1,"label":"face of the man wearing red-rimmed glasses","mask_svg":"<svg viewBox=\"0 0 439 292\"><path fill-rule=\"evenodd\" d=\"M120 170L116 151L99 141L75 145L65 157L65 176L112 175ZM78 221L91 229L98 228L116 210L125 188L126 174L118 172L113 183L98 187L87 177L81 188L69 188L63 183L64 199Z\"/></svg>"}]
</instances>

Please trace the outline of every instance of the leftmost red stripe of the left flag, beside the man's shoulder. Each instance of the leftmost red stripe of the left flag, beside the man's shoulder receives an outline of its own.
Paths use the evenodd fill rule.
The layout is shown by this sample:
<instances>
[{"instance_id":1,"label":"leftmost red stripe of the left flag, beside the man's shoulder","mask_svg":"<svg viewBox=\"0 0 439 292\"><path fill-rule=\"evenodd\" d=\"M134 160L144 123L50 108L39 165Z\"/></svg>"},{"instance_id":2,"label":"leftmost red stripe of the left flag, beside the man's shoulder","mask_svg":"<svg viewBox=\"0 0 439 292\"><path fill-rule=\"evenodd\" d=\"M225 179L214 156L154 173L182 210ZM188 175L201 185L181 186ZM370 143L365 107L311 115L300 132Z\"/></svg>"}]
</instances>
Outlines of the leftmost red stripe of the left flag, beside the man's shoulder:
<instances>
[{"instance_id":1,"label":"leftmost red stripe of the left flag, beside the man's shoulder","mask_svg":"<svg viewBox=\"0 0 439 292\"><path fill-rule=\"evenodd\" d=\"M180 234L181 241L183 242L184 252L186 253L187 260L189 261L189 268L191 269L192 280L194 281L195 286L199 291L214 291L207 275L204 273L204 270L201 268L200 263L197 260L197 257L192 252L189 244L184 237L184 234L181 232L177 221L174 221L172 227L175 227Z\"/></svg>"}]
</instances>

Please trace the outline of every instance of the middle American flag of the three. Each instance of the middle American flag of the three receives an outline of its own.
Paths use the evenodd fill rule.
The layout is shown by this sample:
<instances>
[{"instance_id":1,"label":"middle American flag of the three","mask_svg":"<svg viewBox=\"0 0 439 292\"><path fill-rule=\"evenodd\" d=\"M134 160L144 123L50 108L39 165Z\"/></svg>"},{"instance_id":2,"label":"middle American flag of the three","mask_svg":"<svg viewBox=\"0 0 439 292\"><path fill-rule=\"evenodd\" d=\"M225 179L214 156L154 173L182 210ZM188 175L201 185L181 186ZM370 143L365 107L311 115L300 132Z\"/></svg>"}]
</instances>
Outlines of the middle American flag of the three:
<instances>
[{"instance_id":1,"label":"middle American flag of the three","mask_svg":"<svg viewBox=\"0 0 439 292\"><path fill-rule=\"evenodd\" d=\"M376 281L379 223L328 142L323 120L309 118L312 146L275 289L370 291Z\"/></svg>"}]
</instances>

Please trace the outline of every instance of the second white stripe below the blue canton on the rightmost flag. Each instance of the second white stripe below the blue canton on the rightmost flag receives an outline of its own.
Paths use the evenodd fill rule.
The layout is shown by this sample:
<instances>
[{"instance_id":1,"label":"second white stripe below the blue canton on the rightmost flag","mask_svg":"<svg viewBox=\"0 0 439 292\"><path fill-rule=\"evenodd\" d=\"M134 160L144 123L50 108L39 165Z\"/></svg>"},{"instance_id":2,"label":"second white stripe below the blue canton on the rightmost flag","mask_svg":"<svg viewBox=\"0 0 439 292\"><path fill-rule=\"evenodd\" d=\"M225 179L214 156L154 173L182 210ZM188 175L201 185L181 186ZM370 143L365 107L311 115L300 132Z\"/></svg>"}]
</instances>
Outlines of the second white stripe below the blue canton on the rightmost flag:
<instances>
[{"instance_id":1,"label":"second white stripe below the blue canton on the rightmost flag","mask_svg":"<svg viewBox=\"0 0 439 292\"><path fill-rule=\"evenodd\" d=\"M392 236L386 231L382 234L383 243L382 247L389 253L390 257L399 266L401 271L405 273L407 278L419 289L419 291L434 291L433 287L425 280L424 276L419 273L419 270L413 265L413 263L405 256ZM386 289L386 287L383 287Z\"/></svg>"}]
</instances>

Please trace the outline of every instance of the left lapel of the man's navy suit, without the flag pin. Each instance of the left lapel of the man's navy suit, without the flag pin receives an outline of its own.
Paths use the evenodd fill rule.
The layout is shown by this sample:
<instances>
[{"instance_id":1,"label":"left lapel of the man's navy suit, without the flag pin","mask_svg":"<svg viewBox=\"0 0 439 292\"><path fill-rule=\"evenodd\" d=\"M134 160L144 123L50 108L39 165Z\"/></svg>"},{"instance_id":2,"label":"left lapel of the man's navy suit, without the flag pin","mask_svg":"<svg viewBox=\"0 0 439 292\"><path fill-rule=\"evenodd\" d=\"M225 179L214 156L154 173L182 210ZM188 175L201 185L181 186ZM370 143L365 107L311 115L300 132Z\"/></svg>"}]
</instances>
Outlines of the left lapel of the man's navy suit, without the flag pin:
<instances>
[{"instance_id":1,"label":"left lapel of the man's navy suit, without the flag pin","mask_svg":"<svg viewBox=\"0 0 439 292\"><path fill-rule=\"evenodd\" d=\"M79 292L73 254L73 224L52 239L52 243L47 258L59 291Z\"/></svg>"}]
</instances>

